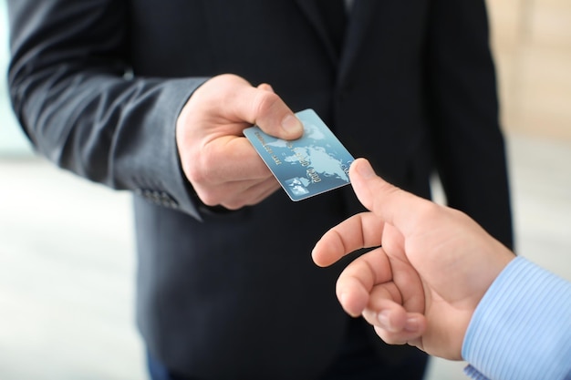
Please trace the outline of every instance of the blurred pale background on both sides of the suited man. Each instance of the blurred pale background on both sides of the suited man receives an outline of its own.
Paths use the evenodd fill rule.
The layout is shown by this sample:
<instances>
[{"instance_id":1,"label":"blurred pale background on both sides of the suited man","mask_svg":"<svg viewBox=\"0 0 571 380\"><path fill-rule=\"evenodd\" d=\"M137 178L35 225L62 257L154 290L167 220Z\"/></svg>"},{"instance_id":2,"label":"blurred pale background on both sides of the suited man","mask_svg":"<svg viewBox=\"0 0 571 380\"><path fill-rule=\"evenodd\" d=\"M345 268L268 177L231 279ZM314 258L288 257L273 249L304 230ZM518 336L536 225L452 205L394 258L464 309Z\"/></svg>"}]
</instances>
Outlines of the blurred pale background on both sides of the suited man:
<instances>
[{"instance_id":1,"label":"blurred pale background on both sides of the suited man","mask_svg":"<svg viewBox=\"0 0 571 380\"><path fill-rule=\"evenodd\" d=\"M571 280L571 2L488 0L519 254ZM8 61L0 0L0 71ZM109 214L113 218L109 218ZM101 224L105 221L105 224ZM146 379L130 196L37 158L0 76L0 379ZM434 359L427 380L465 379Z\"/></svg>"}]
</instances>

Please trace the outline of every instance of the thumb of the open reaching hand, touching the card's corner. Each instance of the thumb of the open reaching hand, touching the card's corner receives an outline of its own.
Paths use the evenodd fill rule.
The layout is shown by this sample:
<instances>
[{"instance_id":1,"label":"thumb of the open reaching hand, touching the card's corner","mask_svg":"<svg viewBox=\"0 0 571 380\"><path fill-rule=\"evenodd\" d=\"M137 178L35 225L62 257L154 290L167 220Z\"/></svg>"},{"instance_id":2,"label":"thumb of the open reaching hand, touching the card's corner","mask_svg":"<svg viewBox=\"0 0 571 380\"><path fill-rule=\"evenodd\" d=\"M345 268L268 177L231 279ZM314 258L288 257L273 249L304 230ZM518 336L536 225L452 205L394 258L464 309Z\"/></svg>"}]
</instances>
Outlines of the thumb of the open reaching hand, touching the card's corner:
<instances>
[{"instance_id":1,"label":"thumb of the open reaching hand, touching the card's corner","mask_svg":"<svg viewBox=\"0 0 571 380\"><path fill-rule=\"evenodd\" d=\"M349 168L351 186L369 211L405 235L412 232L418 209L428 200L400 190L381 179L367 159L356 159Z\"/></svg>"}]
</instances>

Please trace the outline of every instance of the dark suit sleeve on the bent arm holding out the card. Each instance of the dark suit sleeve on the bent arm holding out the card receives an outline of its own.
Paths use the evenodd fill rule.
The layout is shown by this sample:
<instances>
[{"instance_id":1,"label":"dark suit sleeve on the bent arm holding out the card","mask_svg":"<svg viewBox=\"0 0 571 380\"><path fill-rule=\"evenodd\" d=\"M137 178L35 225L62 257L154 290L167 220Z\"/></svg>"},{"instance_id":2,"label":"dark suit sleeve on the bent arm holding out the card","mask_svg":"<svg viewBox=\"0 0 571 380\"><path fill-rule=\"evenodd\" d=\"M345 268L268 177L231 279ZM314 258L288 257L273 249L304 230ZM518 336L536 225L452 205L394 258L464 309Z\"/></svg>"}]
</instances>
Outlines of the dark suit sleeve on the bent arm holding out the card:
<instances>
[{"instance_id":1,"label":"dark suit sleeve on the bent arm holding out the card","mask_svg":"<svg viewBox=\"0 0 571 380\"><path fill-rule=\"evenodd\" d=\"M129 77L127 2L9 0L10 96L62 168L200 218L175 124L204 78Z\"/></svg>"}]
</instances>

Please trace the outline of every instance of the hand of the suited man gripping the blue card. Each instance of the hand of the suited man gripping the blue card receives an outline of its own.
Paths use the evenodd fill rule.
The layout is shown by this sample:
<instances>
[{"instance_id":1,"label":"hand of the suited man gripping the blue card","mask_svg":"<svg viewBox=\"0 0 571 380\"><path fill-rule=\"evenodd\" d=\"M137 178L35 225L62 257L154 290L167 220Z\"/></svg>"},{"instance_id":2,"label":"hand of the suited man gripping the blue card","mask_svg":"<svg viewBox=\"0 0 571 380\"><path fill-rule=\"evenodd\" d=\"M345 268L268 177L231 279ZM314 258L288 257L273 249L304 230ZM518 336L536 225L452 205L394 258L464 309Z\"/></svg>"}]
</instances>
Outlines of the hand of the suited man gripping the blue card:
<instances>
[{"instance_id":1,"label":"hand of the suited man gripping the blue card","mask_svg":"<svg viewBox=\"0 0 571 380\"><path fill-rule=\"evenodd\" d=\"M264 200L279 184L244 128L256 124L281 139L298 139L303 126L269 85L241 77L213 77L196 89L177 120L182 170L204 204L236 210Z\"/></svg>"}]
</instances>

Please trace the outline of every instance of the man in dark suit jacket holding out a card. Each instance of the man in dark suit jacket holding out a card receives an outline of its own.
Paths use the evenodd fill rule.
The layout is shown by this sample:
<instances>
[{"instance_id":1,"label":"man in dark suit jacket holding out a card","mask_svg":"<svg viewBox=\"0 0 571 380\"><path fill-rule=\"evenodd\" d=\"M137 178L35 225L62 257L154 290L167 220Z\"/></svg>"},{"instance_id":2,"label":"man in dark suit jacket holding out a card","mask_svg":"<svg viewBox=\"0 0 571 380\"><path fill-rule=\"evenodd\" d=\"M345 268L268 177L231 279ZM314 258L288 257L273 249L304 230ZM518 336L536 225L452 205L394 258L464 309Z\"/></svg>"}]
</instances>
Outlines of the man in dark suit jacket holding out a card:
<instances>
[{"instance_id":1,"label":"man in dark suit jacket holding out a card","mask_svg":"<svg viewBox=\"0 0 571 380\"><path fill-rule=\"evenodd\" d=\"M512 243L483 0L334 3L8 1L27 136L136 194L154 378L423 375L426 356L343 313L341 266L311 262L323 232L362 210L351 189L291 202L242 136L254 123L295 139L292 110L314 108L406 190L430 197L437 169L452 207Z\"/></svg>"}]
</instances>

